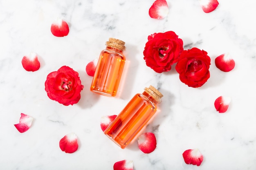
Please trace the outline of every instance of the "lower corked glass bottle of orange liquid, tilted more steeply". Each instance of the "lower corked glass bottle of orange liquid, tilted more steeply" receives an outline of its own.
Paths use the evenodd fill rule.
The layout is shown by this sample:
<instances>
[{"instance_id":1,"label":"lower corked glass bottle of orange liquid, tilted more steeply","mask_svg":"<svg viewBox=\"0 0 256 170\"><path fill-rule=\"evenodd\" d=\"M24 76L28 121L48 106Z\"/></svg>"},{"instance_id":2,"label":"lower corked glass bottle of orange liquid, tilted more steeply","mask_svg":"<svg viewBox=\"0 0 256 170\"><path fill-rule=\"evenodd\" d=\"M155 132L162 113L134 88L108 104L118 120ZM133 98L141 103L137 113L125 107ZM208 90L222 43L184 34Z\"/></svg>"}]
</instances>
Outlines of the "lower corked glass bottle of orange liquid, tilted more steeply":
<instances>
[{"instance_id":1,"label":"lower corked glass bottle of orange liquid, tilted more steeply","mask_svg":"<svg viewBox=\"0 0 256 170\"><path fill-rule=\"evenodd\" d=\"M144 88L142 94L136 94L128 102L104 134L124 149L155 114L156 105L161 102L161 97L162 93L153 86Z\"/></svg>"}]
</instances>

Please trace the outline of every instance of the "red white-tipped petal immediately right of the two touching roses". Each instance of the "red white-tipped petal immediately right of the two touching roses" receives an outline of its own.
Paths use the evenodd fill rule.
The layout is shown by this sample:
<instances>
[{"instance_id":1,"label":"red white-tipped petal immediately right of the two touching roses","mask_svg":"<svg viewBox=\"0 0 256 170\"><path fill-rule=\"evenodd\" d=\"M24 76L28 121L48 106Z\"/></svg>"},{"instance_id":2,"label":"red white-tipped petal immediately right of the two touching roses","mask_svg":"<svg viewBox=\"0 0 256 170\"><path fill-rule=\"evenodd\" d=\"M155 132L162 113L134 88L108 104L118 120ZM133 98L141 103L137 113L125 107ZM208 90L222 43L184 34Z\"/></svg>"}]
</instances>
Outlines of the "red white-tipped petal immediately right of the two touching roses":
<instances>
[{"instance_id":1,"label":"red white-tipped petal immediately right of the two touching roses","mask_svg":"<svg viewBox=\"0 0 256 170\"><path fill-rule=\"evenodd\" d=\"M225 53L216 57L215 65L221 71L229 72L235 67L235 61L230 57L229 53Z\"/></svg>"}]
</instances>

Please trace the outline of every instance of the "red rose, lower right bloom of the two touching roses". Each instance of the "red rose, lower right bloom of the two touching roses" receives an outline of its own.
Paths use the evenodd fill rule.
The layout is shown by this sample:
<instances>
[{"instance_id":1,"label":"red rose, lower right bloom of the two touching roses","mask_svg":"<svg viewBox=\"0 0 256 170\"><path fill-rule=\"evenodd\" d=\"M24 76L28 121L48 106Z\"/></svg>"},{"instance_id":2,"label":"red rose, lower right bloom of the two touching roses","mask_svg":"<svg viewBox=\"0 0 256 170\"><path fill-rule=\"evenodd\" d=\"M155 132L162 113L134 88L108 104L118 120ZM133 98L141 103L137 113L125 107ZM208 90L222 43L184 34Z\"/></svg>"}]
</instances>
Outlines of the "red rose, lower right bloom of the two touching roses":
<instances>
[{"instance_id":1,"label":"red rose, lower right bloom of the two touching roses","mask_svg":"<svg viewBox=\"0 0 256 170\"><path fill-rule=\"evenodd\" d=\"M180 54L175 68L180 74L180 81L189 87L200 87L210 77L210 64L211 58L206 51L192 48Z\"/></svg>"}]
</instances>

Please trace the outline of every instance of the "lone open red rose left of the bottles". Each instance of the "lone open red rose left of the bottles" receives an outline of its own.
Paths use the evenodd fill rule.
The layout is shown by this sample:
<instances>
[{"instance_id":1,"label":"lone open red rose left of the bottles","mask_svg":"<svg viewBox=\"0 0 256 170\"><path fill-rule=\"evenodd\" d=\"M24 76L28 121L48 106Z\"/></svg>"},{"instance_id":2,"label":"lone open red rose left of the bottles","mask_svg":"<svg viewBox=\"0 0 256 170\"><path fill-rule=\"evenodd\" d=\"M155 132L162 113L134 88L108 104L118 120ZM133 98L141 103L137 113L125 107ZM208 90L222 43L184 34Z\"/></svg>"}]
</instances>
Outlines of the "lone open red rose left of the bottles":
<instances>
[{"instance_id":1,"label":"lone open red rose left of the bottles","mask_svg":"<svg viewBox=\"0 0 256 170\"><path fill-rule=\"evenodd\" d=\"M62 66L58 71L47 75L45 91L50 99L65 106L76 104L83 90L78 73L68 66Z\"/></svg>"}]
</instances>

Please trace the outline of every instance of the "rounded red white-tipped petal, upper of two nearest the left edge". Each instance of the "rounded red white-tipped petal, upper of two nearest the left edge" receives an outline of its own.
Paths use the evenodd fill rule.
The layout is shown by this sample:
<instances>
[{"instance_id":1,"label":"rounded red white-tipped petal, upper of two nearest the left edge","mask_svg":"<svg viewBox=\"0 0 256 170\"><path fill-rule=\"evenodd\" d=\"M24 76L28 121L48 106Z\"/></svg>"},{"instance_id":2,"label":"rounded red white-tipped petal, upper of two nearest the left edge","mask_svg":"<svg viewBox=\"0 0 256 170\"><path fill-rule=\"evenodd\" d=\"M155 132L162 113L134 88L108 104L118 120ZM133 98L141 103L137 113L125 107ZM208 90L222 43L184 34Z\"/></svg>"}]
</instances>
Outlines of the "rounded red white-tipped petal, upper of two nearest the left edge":
<instances>
[{"instance_id":1,"label":"rounded red white-tipped petal, upper of two nearest the left edge","mask_svg":"<svg viewBox=\"0 0 256 170\"><path fill-rule=\"evenodd\" d=\"M26 71L37 71L40 68L40 62L34 52L29 53L28 56L25 55L21 60L21 64Z\"/></svg>"}]
</instances>

